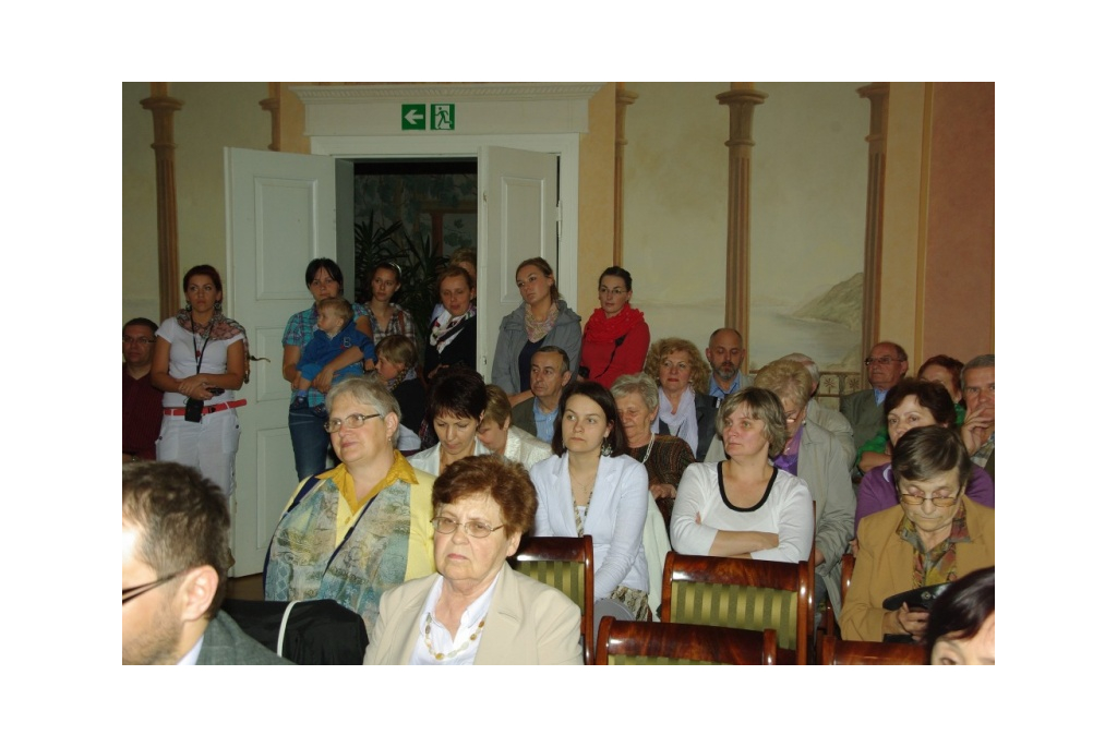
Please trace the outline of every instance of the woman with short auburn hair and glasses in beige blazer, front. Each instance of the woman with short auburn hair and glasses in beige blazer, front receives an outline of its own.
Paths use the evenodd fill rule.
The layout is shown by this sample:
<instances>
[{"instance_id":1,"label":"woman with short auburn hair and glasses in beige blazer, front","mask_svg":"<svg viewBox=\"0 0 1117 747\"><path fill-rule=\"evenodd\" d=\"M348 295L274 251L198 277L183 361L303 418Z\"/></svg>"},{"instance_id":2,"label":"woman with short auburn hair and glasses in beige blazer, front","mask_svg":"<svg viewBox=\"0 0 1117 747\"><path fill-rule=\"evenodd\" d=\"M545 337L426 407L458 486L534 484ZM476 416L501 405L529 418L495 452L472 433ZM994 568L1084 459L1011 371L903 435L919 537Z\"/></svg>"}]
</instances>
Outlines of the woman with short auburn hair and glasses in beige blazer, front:
<instances>
[{"instance_id":1,"label":"woman with short auburn hair and glasses in beige blazer, front","mask_svg":"<svg viewBox=\"0 0 1117 747\"><path fill-rule=\"evenodd\" d=\"M581 664L582 614L508 567L532 530L527 471L495 454L435 481L437 573L384 595L366 664Z\"/></svg>"}]
</instances>

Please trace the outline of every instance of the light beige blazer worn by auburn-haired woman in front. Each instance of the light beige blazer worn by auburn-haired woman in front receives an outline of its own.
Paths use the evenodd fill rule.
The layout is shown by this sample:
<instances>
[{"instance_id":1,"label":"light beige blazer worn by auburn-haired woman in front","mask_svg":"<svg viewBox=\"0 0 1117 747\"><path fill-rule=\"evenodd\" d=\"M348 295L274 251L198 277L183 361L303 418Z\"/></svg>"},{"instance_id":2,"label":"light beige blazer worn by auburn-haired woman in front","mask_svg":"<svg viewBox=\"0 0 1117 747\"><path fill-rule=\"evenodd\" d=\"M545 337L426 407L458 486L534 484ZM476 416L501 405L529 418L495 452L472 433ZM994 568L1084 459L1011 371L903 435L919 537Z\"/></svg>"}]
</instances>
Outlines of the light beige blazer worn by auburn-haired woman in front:
<instances>
[{"instance_id":1,"label":"light beige blazer worn by auburn-haired woman in front","mask_svg":"<svg viewBox=\"0 0 1117 747\"><path fill-rule=\"evenodd\" d=\"M366 664L405 664L419 640L419 616L438 574L397 586L380 600ZM496 582L475 664L581 664L582 613L556 588L506 563Z\"/></svg>"}]
</instances>

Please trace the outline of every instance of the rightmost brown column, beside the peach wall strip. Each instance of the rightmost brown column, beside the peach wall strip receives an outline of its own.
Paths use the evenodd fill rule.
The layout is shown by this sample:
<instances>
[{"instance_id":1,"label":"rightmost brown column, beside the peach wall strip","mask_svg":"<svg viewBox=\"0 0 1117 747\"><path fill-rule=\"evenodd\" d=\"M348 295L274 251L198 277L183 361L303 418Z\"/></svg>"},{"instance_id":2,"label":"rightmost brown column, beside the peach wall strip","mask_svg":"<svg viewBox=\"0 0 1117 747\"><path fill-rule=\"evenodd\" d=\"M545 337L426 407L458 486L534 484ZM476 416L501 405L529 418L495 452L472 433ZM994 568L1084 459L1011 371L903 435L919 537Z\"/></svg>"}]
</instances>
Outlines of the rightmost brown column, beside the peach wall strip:
<instances>
[{"instance_id":1,"label":"rightmost brown column, beside the peach wall strip","mask_svg":"<svg viewBox=\"0 0 1117 747\"><path fill-rule=\"evenodd\" d=\"M869 99L869 188L865 209L865 281L861 300L861 355L866 356L880 335L881 226L885 216L885 146L888 130L888 84L873 83L857 89Z\"/></svg>"}]
</instances>

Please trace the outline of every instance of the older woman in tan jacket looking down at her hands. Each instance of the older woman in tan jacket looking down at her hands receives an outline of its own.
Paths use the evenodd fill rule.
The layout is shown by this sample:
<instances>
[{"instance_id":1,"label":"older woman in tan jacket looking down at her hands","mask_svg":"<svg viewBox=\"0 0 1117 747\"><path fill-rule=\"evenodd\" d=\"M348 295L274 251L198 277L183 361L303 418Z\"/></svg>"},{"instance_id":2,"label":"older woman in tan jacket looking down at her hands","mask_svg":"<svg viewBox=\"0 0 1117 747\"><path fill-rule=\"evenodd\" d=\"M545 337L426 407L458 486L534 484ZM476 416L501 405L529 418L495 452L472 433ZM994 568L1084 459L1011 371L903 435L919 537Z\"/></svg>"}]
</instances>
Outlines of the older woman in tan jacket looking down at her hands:
<instances>
[{"instance_id":1,"label":"older woman in tan jacket looking down at her hands","mask_svg":"<svg viewBox=\"0 0 1117 747\"><path fill-rule=\"evenodd\" d=\"M993 509L965 494L971 461L957 433L909 430L896 443L892 470L899 505L858 528L860 552L839 617L849 641L920 642L927 610L907 603L886 610L885 600L953 582L996 556Z\"/></svg>"}]
</instances>

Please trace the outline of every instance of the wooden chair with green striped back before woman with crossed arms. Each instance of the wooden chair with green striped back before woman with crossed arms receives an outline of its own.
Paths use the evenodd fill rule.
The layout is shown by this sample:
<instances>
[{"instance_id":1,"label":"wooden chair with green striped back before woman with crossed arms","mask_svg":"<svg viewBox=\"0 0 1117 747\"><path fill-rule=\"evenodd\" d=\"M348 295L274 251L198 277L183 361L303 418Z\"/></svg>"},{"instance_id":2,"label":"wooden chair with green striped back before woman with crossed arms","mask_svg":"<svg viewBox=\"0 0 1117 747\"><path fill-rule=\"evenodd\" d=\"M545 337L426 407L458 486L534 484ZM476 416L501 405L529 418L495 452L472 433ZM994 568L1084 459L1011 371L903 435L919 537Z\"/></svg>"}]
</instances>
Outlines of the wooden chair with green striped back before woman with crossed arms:
<instances>
[{"instance_id":1,"label":"wooden chair with green striped back before woman with crossed arms","mask_svg":"<svg viewBox=\"0 0 1117 747\"><path fill-rule=\"evenodd\" d=\"M805 664L814 625L814 568L735 557L667 554L663 622L744 630L773 629L776 663Z\"/></svg>"}]
</instances>

